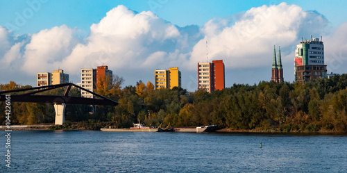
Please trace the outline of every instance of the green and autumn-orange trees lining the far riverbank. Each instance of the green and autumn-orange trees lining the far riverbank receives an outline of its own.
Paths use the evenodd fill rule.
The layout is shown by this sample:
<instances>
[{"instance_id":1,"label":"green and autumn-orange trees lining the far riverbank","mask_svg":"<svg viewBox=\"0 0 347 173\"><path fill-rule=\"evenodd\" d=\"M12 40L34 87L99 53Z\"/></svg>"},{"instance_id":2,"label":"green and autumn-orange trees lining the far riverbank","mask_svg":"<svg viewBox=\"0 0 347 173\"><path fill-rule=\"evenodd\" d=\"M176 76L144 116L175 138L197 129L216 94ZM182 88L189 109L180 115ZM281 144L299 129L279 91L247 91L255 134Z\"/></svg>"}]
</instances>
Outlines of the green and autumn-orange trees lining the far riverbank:
<instances>
[{"instance_id":1,"label":"green and autumn-orange trees lining the far riverbank","mask_svg":"<svg viewBox=\"0 0 347 173\"><path fill-rule=\"evenodd\" d=\"M216 124L219 132L347 132L347 74L331 79L300 83L262 81L254 85L234 84L212 93L187 92L183 88L154 90L151 82L139 81L121 88L124 79L99 79L96 93L119 102L118 106L67 105L65 124L51 130L99 130L106 126L128 128L133 123L146 126L203 126ZM31 88L13 81L1 84L0 91ZM80 96L77 88L70 91ZM14 94L14 93L12 93ZM62 95L64 88L46 91ZM54 122L51 104L11 103L12 124ZM6 106L0 102L0 112ZM5 114L0 115L0 124Z\"/></svg>"}]
</instances>

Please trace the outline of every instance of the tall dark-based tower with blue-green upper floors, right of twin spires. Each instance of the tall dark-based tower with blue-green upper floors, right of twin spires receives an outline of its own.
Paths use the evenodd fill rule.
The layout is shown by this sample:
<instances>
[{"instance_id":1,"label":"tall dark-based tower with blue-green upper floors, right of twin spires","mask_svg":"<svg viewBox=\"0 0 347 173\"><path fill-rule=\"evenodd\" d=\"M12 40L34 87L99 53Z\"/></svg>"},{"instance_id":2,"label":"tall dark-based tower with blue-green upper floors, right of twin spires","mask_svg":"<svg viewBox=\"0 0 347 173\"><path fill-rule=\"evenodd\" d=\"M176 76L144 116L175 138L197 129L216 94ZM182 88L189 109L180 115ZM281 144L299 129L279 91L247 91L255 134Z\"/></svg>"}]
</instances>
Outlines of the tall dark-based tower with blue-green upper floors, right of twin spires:
<instances>
[{"instance_id":1,"label":"tall dark-based tower with blue-green upper floors, right of twin spires","mask_svg":"<svg viewBox=\"0 0 347 173\"><path fill-rule=\"evenodd\" d=\"M327 77L324 65L324 44L319 38L302 41L295 50L295 81L307 83L311 79Z\"/></svg>"}]
</instances>

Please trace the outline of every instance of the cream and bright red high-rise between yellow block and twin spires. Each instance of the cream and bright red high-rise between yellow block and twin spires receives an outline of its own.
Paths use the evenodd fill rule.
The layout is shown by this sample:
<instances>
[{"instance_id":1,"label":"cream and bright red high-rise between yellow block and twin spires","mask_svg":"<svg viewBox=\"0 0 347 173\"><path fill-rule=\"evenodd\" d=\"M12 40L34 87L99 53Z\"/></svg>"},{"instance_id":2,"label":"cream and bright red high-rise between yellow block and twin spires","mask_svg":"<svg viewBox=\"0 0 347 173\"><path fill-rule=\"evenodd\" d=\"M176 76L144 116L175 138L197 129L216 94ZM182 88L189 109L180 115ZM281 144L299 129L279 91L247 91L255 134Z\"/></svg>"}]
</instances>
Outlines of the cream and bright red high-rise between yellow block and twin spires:
<instances>
[{"instance_id":1,"label":"cream and bright red high-rise between yellow block and twin spires","mask_svg":"<svg viewBox=\"0 0 347 173\"><path fill-rule=\"evenodd\" d=\"M212 63L198 63L198 90L213 92L225 88L225 67L223 60Z\"/></svg>"}]
</instances>

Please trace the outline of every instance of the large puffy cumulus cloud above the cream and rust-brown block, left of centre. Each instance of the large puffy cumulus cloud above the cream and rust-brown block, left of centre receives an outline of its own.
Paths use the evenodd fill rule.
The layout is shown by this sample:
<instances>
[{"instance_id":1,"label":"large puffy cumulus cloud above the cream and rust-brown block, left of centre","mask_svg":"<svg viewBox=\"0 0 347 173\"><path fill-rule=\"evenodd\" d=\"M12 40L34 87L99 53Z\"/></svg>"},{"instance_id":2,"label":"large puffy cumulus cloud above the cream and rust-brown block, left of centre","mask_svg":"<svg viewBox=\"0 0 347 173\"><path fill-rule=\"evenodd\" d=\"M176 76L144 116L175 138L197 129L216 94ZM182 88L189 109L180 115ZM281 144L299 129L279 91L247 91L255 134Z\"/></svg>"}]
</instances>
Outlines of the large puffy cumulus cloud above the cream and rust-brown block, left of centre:
<instances>
[{"instance_id":1,"label":"large puffy cumulus cloud above the cream and rust-brown block, left of centre","mask_svg":"<svg viewBox=\"0 0 347 173\"><path fill-rule=\"evenodd\" d=\"M180 56L169 58L169 55L189 47L192 39L196 38L189 38L185 30L150 11L135 13L125 6L117 6L98 24L92 24L86 43L77 44L62 60L62 67L74 73L82 67L95 68L103 64L112 69L153 71L158 65L169 63L168 60L176 65L183 63L178 61Z\"/></svg>"}]
</instances>

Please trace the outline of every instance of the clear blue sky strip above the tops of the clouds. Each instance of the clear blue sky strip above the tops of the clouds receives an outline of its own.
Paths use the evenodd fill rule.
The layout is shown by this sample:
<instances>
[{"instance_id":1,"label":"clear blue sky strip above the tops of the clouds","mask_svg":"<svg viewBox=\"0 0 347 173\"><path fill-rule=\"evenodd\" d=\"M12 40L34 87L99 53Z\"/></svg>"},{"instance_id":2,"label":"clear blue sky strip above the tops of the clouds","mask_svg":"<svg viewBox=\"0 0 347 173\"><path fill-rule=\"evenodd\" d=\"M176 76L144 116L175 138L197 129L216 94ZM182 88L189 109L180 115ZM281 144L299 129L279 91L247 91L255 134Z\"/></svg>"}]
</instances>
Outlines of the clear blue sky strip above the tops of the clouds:
<instances>
[{"instance_id":1,"label":"clear blue sky strip above the tops of the clouds","mask_svg":"<svg viewBox=\"0 0 347 173\"><path fill-rule=\"evenodd\" d=\"M22 15L23 10L30 8L28 3L36 2L35 0L23 1L1 1L0 6L0 24L14 23L19 13ZM118 5L124 5L130 10L137 12L151 10L159 17L176 24L178 26L187 26L196 24L203 26L206 22L214 17L230 17L237 13L242 13L253 7L262 5L278 5L282 1L259 1L259 0L74 0L74 1L53 1L46 0L42 8L34 13L33 17L27 20L27 24L15 31L15 34L37 33L44 28L60 26L66 24L69 27L81 29L83 34L87 35L90 25L99 23L105 17L105 13ZM316 10L323 14L332 23L332 26L338 26L346 22L345 16L347 1L335 0L315 0L315 1L284 1L303 7L303 10Z\"/></svg>"}]
</instances>

